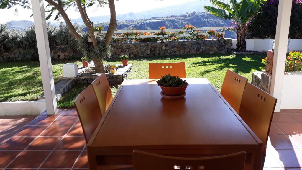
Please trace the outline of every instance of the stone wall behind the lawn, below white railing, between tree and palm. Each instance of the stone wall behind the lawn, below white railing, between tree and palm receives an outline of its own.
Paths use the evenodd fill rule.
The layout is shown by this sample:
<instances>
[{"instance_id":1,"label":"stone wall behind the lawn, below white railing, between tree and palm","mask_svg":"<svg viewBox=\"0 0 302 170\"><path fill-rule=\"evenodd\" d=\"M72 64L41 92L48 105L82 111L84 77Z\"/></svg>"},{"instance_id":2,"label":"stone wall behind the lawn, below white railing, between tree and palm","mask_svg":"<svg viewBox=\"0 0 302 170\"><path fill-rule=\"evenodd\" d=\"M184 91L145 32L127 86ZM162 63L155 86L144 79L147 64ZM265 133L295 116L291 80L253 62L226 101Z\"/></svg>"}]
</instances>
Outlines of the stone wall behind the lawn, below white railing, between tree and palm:
<instances>
[{"instance_id":1,"label":"stone wall behind the lawn, below white railing, between tree and palm","mask_svg":"<svg viewBox=\"0 0 302 170\"><path fill-rule=\"evenodd\" d=\"M231 39L202 41L163 41L111 43L113 58L127 54L130 57L154 57L184 54L225 54L231 51Z\"/></svg>"}]
</instances>

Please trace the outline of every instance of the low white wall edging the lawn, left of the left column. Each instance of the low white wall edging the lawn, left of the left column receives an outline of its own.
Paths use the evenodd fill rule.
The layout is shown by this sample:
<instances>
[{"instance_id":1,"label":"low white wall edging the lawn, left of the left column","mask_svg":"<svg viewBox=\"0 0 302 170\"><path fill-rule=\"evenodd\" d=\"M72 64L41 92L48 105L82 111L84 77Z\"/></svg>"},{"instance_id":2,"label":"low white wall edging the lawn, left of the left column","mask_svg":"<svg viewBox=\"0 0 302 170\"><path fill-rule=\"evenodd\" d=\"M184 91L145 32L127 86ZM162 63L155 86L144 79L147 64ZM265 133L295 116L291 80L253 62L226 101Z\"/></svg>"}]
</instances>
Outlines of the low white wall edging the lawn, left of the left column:
<instances>
[{"instance_id":1,"label":"low white wall edging the lawn, left of the left column","mask_svg":"<svg viewBox=\"0 0 302 170\"><path fill-rule=\"evenodd\" d=\"M46 110L45 100L0 102L1 116L39 115Z\"/></svg>"}]
</instances>

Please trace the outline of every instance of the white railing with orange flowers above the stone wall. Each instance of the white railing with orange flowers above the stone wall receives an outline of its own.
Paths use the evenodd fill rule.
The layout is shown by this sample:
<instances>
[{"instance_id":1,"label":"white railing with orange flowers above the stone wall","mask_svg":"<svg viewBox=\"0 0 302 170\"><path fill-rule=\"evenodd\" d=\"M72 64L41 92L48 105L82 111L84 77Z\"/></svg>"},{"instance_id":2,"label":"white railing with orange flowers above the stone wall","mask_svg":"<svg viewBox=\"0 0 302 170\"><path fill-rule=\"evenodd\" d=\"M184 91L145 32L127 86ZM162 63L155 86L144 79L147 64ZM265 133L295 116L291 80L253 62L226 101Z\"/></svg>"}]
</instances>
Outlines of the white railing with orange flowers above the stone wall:
<instances>
[{"instance_id":1,"label":"white railing with orange flowers above the stone wall","mask_svg":"<svg viewBox=\"0 0 302 170\"><path fill-rule=\"evenodd\" d=\"M203 27L203 28L194 28L195 30L199 30L199 31L207 31L207 30L222 30L223 28L225 27ZM163 38L163 37L168 37L170 36L169 34L166 34L164 36L162 35L152 35L152 33L155 33L155 32L160 32L161 30L158 29L158 30L133 30L131 32L135 32L137 31L138 33L151 33L150 35L140 35L140 36L133 36L133 37L128 37L128 38ZM184 30L182 28L179 28L179 29L165 29L165 32L179 32L179 31L185 31L185 32L189 32L191 30ZM114 34L122 34L122 33L127 33L127 32L130 32L129 30L117 30L117 31L114 31ZM223 31L217 31L219 34L223 34L223 38L224 38L224 32ZM107 33L107 31L102 31L102 33ZM208 35L207 33L198 33L198 34L202 34L202 35ZM191 36L190 34L178 34L177 35L178 37L189 37ZM112 38L114 39L118 39L118 38L124 38L122 36L118 36L118 35L114 35L112 36Z\"/></svg>"}]
</instances>

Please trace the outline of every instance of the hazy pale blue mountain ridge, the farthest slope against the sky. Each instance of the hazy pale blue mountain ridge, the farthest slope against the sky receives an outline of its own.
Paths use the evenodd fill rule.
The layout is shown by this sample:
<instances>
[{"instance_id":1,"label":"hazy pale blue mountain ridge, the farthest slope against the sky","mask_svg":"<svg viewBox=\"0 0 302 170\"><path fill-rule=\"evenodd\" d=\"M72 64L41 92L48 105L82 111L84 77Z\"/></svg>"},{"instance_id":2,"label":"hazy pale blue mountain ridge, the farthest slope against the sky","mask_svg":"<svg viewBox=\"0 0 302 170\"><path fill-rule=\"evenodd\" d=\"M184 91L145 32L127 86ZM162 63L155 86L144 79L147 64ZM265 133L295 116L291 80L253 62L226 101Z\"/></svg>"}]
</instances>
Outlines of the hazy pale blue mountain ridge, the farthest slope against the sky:
<instances>
[{"instance_id":1,"label":"hazy pale blue mountain ridge, the farthest slope against the sky","mask_svg":"<svg viewBox=\"0 0 302 170\"><path fill-rule=\"evenodd\" d=\"M171 5L169 7L156 8L147 11L141 11L137 13L130 12L128 14L119 14L116 15L117 20L138 20L146 19L152 17L164 17L169 15L181 15L185 12L202 12L204 11L204 6L211 5L208 1L193 1L186 2L178 5ZM96 17L90 17L91 21L94 23L107 22L110 20L110 15L102 15ZM84 25L82 18L72 19L72 22L78 22L80 25Z\"/></svg>"}]
</instances>

